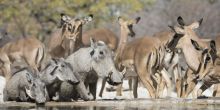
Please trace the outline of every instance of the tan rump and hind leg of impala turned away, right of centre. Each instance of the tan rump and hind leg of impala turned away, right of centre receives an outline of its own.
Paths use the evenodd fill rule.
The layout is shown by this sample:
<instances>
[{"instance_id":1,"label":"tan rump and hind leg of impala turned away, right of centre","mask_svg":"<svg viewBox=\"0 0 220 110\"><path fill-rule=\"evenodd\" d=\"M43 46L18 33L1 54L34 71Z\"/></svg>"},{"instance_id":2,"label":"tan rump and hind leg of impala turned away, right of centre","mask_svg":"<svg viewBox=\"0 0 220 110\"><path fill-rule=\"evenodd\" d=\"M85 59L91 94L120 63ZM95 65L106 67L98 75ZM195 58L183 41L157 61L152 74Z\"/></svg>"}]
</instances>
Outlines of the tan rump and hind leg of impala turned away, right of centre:
<instances>
[{"instance_id":1,"label":"tan rump and hind leg of impala turned away, right of centre","mask_svg":"<svg viewBox=\"0 0 220 110\"><path fill-rule=\"evenodd\" d=\"M138 73L138 76L140 80L142 81L143 85L147 88L150 96L152 98L156 98L156 90L153 85L152 80L152 73L149 73L148 70L148 57L153 51L154 48L157 48L158 44L160 44L160 40L153 37L144 37L139 40L139 43L137 44L135 48L135 54L134 54L134 65L135 69Z\"/></svg>"}]
</instances>

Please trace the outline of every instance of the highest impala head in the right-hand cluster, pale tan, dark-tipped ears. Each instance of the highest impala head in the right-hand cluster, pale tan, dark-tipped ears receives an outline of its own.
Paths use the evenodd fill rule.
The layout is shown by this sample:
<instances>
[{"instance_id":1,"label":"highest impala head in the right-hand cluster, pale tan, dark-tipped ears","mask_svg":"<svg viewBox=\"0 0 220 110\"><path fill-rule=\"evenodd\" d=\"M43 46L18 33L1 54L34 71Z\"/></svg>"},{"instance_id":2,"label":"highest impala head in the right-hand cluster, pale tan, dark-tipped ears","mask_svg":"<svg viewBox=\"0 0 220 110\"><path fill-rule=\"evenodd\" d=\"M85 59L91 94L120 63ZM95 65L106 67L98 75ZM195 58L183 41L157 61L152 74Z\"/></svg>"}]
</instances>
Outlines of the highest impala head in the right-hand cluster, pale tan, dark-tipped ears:
<instances>
[{"instance_id":1,"label":"highest impala head in the right-hand cluster, pale tan, dark-tipped ears","mask_svg":"<svg viewBox=\"0 0 220 110\"><path fill-rule=\"evenodd\" d=\"M177 18L177 22L179 26L169 26L176 35L174 35L172 41L170 42L170 46L182 48L184 43L190 44L190 39L198 39L199 37L195 33L195 29L199 28L201 25L203 19L200 19L199 21L195 21L190 25L186 25L183 18L179 16Z\"/></svg>"}]
</instances>

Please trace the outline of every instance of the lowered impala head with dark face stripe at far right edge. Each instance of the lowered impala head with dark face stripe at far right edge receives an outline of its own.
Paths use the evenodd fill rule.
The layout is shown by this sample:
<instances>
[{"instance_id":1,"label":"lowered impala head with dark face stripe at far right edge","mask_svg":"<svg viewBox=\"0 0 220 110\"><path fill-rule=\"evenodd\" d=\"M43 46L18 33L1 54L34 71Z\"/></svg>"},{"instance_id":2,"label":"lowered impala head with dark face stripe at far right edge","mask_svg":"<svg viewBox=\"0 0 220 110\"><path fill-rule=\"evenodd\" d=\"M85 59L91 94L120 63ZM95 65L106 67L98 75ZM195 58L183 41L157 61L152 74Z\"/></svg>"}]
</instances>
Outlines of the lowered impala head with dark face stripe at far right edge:
<instances>
[{"instance_id":1,"label":"lowered impala head with dark face stripe at far right edge","mask_svg":"<svg viewBox=\"0 0 220 110\"><path fill-rule=\"evenodd\" d=\"M210 48L202 48L199 46L197 41L194 41L191 39L191 42L194 46L194 48L201 52L200 56L200 64L199 68L197 70L197 73L199 73L199 80L202 80L207 74L214 74L212 72L213 67L215 66L215 60L217 58L217 51L215 46L215 41L210 41Z\"/></svg>"}]
</instances>

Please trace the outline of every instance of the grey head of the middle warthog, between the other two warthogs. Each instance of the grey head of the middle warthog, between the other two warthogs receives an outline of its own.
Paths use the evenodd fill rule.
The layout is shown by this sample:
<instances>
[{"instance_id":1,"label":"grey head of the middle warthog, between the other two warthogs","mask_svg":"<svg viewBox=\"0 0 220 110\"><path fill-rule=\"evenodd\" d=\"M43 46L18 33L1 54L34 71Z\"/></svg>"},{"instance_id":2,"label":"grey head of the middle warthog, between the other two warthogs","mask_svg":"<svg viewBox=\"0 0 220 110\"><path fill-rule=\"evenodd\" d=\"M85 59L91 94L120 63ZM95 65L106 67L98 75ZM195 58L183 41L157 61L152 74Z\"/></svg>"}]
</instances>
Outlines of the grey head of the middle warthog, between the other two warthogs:
<instances>
[{"instance_id":1,"label":"grey head of the middle warthog, between the other two warthogs","mask_svg":"<svg viewBox=\"0 0 220 110\"><path fill-rule=\"evenodd\" d=\"M52 59L41 73L41 79L47 85L56 81L67 81L70 84L79 83L70 64L65 62L63 58Z\"/></svg>"}]
</instances>

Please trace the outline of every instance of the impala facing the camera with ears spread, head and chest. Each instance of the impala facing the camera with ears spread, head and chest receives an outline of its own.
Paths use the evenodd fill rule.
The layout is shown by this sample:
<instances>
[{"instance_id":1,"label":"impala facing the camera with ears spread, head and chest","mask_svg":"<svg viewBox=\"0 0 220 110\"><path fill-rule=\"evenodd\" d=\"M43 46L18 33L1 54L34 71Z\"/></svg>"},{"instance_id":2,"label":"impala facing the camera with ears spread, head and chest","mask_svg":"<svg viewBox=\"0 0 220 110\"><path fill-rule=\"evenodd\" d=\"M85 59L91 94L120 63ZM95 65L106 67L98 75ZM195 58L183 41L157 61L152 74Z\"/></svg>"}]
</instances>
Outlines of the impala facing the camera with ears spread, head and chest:
<instances>
[{"instance_id":1,"label":"impala facing the camera with ears spread, head and chest","mask_svg":"<svg viewBox=\"0 0 220 110\"><path fill-rule=\"evenodd\" d=\"M52 57L67 57L83 46L82 27L92 21L93 15L74 19L61 14L61 29L56 30L48 41L49 53Z\"/></svg>"}]
</instances>

